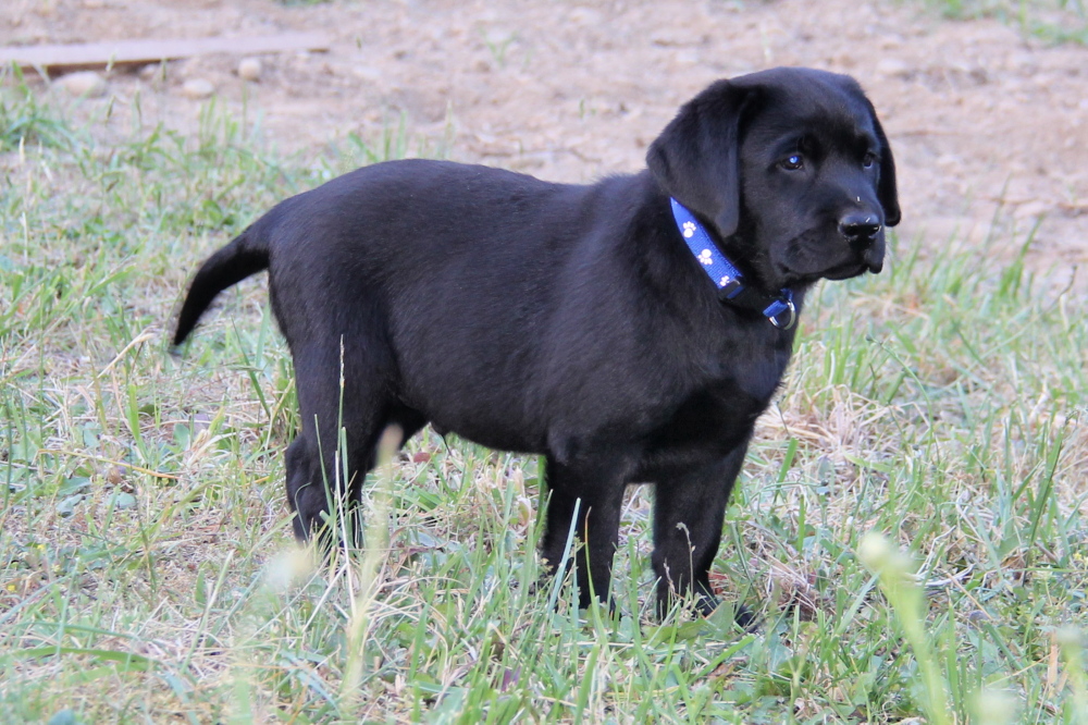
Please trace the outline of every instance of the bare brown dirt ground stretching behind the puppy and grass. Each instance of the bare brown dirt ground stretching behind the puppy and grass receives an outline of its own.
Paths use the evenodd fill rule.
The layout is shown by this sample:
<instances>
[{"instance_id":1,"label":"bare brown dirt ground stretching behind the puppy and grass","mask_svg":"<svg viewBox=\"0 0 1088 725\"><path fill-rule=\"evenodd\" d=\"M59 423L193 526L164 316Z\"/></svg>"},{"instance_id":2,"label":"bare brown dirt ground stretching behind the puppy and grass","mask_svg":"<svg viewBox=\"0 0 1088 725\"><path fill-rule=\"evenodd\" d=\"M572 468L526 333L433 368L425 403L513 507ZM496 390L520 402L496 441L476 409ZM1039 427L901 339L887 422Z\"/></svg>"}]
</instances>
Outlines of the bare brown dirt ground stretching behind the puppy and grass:
<instances>
[{"instance_id":1,"label":"bare brown dirt ground stretching behind the puppy and grass","mask_svg":"<svg viewBox=\"0 0 1088 725\"><path fill-rule=\"evenodd\" d=\"M640 169L713 79L809 65L854 75L873 98L900 168L903 246L981 244L997 219L996 254L1012 255L1038 220L1035 271L1064 286L1088 260L1088 49L998 21L856 0L0 3L3 45L282 30L323 30L333 45L264 56L254 83L232 56L172 63L164 79L114 72L76 112L113 102L124 131L132 114L118 109L138 95L146 124L190 128L203 101L184 83L201 78L239 111L248 96L285 151L372 138L403 113L413 135L449 136L455 160L582 182Z\"/></svg>"}]
</instances>

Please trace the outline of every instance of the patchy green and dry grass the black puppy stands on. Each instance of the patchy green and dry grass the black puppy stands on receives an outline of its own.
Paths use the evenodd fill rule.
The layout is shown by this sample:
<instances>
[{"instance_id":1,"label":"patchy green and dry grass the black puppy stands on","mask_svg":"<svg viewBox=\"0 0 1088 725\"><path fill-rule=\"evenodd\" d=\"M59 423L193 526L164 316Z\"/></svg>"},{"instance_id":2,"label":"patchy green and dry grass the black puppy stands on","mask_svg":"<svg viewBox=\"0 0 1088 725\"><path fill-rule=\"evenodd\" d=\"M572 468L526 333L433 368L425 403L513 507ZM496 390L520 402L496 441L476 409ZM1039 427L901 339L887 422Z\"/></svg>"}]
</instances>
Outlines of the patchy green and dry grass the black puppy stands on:
<instances>
[{"instance_id":1,"label":"patchy green and dry grass the black puppy stands on","mask_svg":"<svg viewBox=\"0 0 1088 725\"><path fill-rule=\"evenodd\" d=\"M433 433L374 476L381 545L316 569L263 282L166 349L209 251L404 125L281 159L213 106L102 145L0 94L5 722L1088 721L1088 320L999 254L1028 236L900 239L807 310L715 565L758 632L651 616L644 491L609 618L534 587L537 462Z\"/></svg>"}]
</instances>

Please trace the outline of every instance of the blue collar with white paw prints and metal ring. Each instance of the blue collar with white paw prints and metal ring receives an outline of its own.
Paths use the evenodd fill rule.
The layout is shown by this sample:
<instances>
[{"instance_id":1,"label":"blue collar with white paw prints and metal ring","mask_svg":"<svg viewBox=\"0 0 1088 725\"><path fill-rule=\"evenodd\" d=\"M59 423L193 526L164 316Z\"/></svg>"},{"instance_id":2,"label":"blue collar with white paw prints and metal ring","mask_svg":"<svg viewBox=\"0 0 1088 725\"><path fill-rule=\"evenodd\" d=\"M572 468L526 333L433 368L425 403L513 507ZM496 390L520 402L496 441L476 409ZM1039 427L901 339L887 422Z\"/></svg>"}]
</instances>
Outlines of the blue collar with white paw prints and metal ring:
<instances>
[{"instance_id":1,"label":"blue collar with white paw prints and metal ring","mask_svg":"<svg viewBox=\"0 0 1088 725\"><path fill-rule=\"evenodd\" d=\"M735 307L763 314L776 328L789 330L798 321L798 310L793 306L793 291L784 287L777 295L766 295L755 287L746 286L741 272L710 238L706 229L682 204L673 198L672 217L677 229L691 249L691 254L703 266L703 271L718 288L718 299Z\"/></svg>"}]
</instances>

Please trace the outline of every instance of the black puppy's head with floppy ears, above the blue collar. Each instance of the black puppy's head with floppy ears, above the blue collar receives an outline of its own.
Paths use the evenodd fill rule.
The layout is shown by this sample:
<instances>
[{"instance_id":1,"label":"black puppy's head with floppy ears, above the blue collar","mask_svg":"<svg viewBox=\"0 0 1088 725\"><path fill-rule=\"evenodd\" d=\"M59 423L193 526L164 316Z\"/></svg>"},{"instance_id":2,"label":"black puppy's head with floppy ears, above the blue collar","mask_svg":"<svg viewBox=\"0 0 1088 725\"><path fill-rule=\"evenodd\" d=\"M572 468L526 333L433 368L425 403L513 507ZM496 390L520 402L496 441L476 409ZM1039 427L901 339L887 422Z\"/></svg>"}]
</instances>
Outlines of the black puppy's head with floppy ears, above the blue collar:
<instances>
[{"instance_id":1,"label":"black puppy's head with floppy ears, above the blue collar","mask_svg":"<svg viewBox=\"0 0 1088 725\"><path fill-rule=\"evenodd\" d=\"M883 266L895 164L853 78L775 69L719 81L650 147L662 188L709 222L769 290Z\"/></svg>"}]
</instances>

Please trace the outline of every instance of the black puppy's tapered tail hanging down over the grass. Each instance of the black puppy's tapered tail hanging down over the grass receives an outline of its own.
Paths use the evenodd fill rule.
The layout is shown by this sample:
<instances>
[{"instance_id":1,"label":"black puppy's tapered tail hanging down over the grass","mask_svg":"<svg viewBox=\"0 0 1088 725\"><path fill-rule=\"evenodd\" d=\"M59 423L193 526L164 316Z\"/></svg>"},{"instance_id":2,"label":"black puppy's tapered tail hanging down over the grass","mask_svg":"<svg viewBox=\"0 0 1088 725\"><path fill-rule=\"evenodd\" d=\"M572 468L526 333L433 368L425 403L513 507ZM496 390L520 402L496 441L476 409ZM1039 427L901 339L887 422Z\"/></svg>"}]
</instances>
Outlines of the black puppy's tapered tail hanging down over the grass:
<instances>
[{"instance_id":1,"label":"black puppy's tapered tail hanging down over the grass","mask_svg":"<svg viewBox=\"0 0 1088 725\"><path fill-rule=\"evenodd\" d=\"M193 278L189 292L182 303L177 329L174 331L174 345L185 342L215 295L268 267L268 244L255 233L252 226L209 257Z\"/></svg>"}]
</instances>

